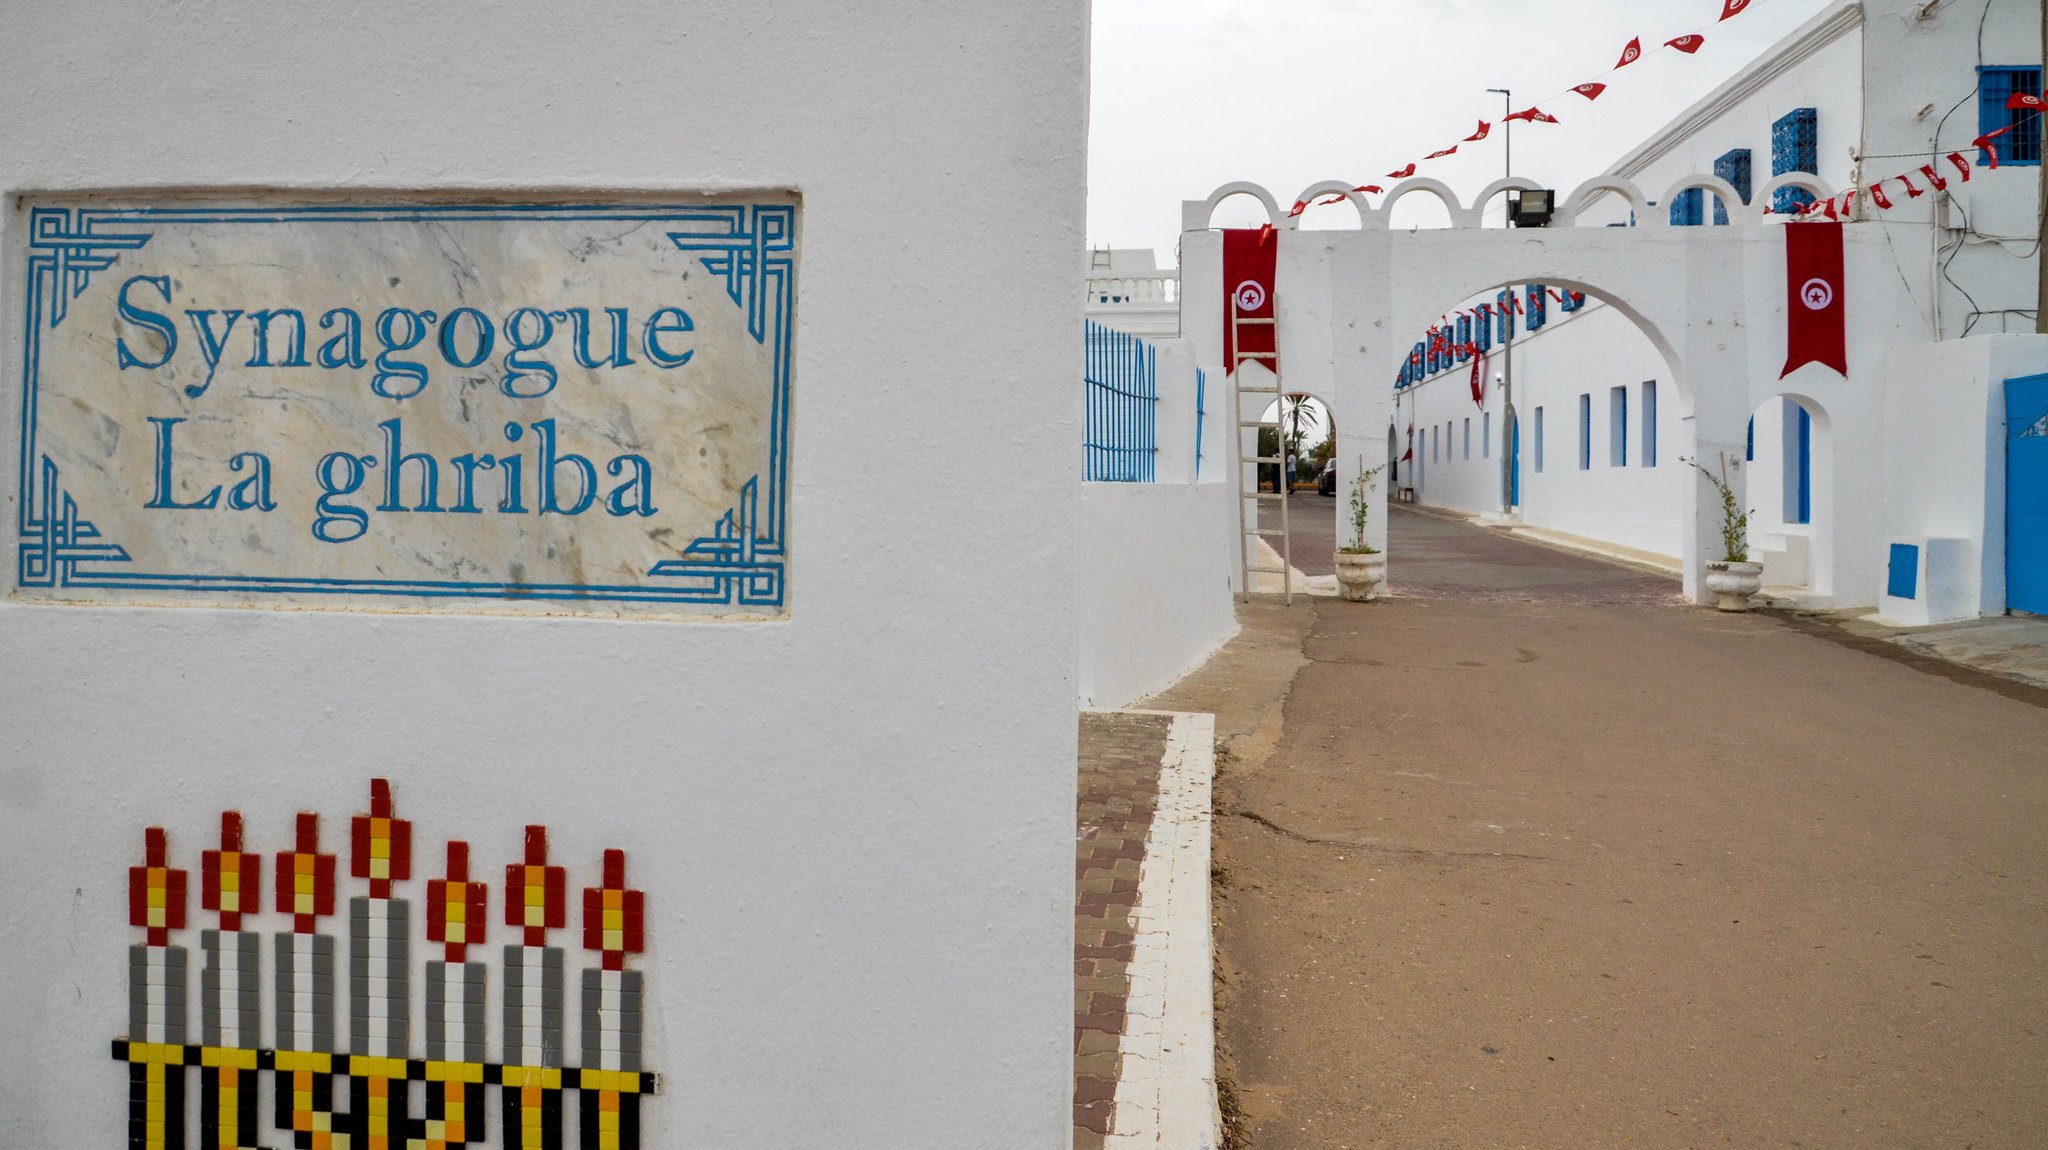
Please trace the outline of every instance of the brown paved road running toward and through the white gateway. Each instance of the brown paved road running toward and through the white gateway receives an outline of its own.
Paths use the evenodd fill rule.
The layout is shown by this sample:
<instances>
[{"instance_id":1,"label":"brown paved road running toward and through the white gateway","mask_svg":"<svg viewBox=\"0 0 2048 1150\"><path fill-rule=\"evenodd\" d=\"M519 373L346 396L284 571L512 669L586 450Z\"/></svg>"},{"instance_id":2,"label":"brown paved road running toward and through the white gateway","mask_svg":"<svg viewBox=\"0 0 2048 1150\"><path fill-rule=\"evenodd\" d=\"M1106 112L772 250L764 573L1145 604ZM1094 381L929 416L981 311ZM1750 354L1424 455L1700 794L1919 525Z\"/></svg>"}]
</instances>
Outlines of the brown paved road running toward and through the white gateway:
<instances>
[{"instance_id":1,"label":"brown paved road running toward and through the white gateway","mask_svg":"<svg viewBox=\"0 0 2048 1150\"><path fill-rule=\"evenodd\" d=\"M1155 700L1219 712L1237 1136L2048 1146L2048 692L1395 530L1407 595Z\"/></svg>"}]
</instances>

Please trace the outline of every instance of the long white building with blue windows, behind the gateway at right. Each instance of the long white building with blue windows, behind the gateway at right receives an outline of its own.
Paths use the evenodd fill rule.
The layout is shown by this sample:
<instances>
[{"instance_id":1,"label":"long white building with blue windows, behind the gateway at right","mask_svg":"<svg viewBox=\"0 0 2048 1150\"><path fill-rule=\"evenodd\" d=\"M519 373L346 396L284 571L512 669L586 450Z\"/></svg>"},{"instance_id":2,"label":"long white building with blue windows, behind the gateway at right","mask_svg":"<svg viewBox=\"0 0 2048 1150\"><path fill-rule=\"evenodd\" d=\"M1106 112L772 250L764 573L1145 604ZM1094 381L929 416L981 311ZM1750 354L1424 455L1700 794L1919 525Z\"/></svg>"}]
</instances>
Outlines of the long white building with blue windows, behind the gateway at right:
<instances>
[{"instance_id":1,"label":"long white building with blue windows, behind the gateway at right","mask_svg":"<svg viewBox=\"0 0 2048 1150\"><path fill-rule=\"evenodd\" d=\"M1999 139L1997 170L1972 147L1980 133L2011 123L2015 113L2003 106L2009 90L2040 92L2040 6L2028 4L1991 4L1989 12L1892 0L1837 4L1608 172L1653 196L1700 174L1745 196L1794 170L1835 190L1884 180L1888 211L1860 194L1847 215L1851 239L1858 231L1880 235L1882 264L1860 278L1851 258L1847 293L1851 346L1884 346L1884 372L1851 368L1841 389L1825 368L1778 381L1776 370L1759 377L1761 364L1753 364L1747 381L1755 401L1745 442L1731 454L1743 456L1753 557L1761 552L1765 583L1788 598L1880 604L1896 589L1888 569L1894 540L1958 540L1968 552L1960 565L1968 577L1956 589L1958 602L1970 604L1964 614L2009 606L2007 567L2048 565L2048 540L2038 550L2028 540L2011 555L2005 548L2001 417L2003 381L2048 370L2048 362L2038 346L2013 352L1982 340L2034 331L2040 119L2017 113L2028 127ZM1968 180L1948 160L1952 151L1970 162ZM1946 190L1929 186L1921 164L1946 178ZM1921 194L1890 180L1896 174L1909 174ZM1790 211L1810 196L1784 188L1774 198L1772 209ZM1636 211L1610 194L1579 213L1577 225L1628 227ZM1726 223L1724 205L1704 188L1663 194L1651 211L1669 213L1675 225ZM1690 403L1675 401L1667 356L1597 295L1581 305L1552 286L1538 293L1544 305L1536 309L1528 284L1513 291L1524 307L1507 323L1493 291L1446 309L1450 342L1487 350L1481 403L1462 350L1430 356L1417 344L1423 368L1403 372L1397 385L1393 456L1409 450L1413 428L1413 460L1399 465L1397 487L1462 512L1497 514L1511 497L1530 526L1683 555L1681 505L1698 477L1677 458ZM1460 313L1470 315L1466 327ZM1491 340L1475 329L1483 319L1491 319ZM1503 327L1513 331L1511 352L1503 350ZM1430 340L1427 331L1409 338ZM1939 364L1933 374L1907 368L1937 346L1946 350L1931 352ZM1976 374L1968 364L1978 364ZM1522 428L1513 483L1501 458L1511 448L1501 436L1501 383L1509 381ZM1819 391L1833 393L1835 411L1815 399ZM1855 452L1858 467L1882 458L1880 477L1833 487L1837 452ZM1712 454L1704 462L1718 467ZM1831 516L1841 520L1829 524ZM1882 606L1913 620L1925 604L1921 595L1919 608ZM2032 600L2011 606L2048 610Z\"/></svg>"}]
</instances>

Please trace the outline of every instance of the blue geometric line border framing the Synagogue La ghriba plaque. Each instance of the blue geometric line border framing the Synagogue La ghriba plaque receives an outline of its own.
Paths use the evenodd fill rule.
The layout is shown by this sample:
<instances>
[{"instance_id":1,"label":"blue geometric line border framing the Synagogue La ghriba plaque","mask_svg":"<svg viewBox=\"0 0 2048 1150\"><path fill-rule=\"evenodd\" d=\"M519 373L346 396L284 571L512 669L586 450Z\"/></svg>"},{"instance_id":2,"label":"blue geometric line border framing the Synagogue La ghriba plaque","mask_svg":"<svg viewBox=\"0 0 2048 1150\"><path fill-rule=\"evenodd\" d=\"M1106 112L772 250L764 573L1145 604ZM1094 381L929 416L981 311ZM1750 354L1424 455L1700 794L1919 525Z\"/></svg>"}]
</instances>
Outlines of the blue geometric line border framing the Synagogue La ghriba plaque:
<instances>
[{"instance_id":1,"label":"blue geometric line border framing the Synagogue La ghriba plaque","mask_svg":"<svg viewBox=\"0 0 2048 1150\"><path fill-rule=\"evenodd\" d=\"M80 516L57 467L35 450L37 383L45 329L63 323L70 301L113 268L123 252L150 244L158 223L442 223L489 219L573 219L655 223L748 315L748 334L768 346L774 385L768 424L768 483L748 479L739 505L711 534L684 546L682 559L655 563L657 585L471 583L453 579L315 579L285 575L141 573L117 542ZM788 389L797 319L795 205L299 205L299 207L129 207L53 209L29 217L27 307L20 399L20 510L16 516L18 587L96 587L152 591L356 593L438 600L655 602L780 608L788 591ZM760 503L766 501L766 514Z\"/></svg>"}]
</instances>

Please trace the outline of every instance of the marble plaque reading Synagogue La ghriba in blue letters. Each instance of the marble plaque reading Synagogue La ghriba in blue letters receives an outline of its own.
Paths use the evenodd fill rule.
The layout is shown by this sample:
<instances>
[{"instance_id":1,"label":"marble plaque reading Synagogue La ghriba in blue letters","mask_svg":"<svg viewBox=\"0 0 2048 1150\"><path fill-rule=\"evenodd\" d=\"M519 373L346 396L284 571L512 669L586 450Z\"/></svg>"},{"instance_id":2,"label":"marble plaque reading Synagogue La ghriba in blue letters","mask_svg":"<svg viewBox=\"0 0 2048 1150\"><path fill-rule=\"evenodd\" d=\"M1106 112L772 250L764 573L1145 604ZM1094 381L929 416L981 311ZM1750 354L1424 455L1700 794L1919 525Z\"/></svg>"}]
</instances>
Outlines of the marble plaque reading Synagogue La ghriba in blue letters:
<instances>
[{"instance_id":1,"label":"marble plaque reading Synagogue La ghriba in blue letters","mask_svg":"<svg viewBox=\"0 0 2048 1150\"><path fill-rule=\"evenodd\" d=\"M793 196L27 196L10 595L778 618Z\"/></svg>"}]
</instances>

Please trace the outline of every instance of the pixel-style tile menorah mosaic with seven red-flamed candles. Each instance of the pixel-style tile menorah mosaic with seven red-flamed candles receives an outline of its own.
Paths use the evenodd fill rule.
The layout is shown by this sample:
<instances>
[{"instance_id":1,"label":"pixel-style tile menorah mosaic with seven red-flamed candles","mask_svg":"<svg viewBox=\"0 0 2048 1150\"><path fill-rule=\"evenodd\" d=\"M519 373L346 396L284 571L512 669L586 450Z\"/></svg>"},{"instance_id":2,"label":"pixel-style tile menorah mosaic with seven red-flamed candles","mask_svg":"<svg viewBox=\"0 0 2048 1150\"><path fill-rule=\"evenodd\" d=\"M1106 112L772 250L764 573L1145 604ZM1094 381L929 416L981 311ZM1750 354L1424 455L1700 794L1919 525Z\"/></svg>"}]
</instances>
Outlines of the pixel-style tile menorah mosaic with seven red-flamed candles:
<instances>
[{"instance_id":1,"label":"pixel-style tile menorah mosaic with seven red-flamed candles","mask_svg":"<svg viewBox=\"0 0 2048 1150\"><path fill-rule=\"evenodd\" d=\"M469 843L451 841L442 878L426 884L424 1025L412 1019L412 823L391 808L385 780L371 810L350 821L346 982L338 988L330 923L336 855L319 849L319 816L301 812L289 851L276 853L270 935L270 1046L262 1044L262 859L244 845L242 814L221 814L221 841L201 853L201 906L217 925L199 933L199 1031L190 1029L186 872L170 866L162 827L150 827L143 866L129 868L129 1033L113 1056L129 1066L129 1148L182 1150L190 1070L199 1076L203 1150L266 1146L258 1087L270 1076L272 1121L297 1150L444 1150L483 1146L487 1093L498 1091L502 1146L561 1150L565 1099L575 1095L582 1150L637 1150L639 1103L659 1093L641 1066L643 982L629 956L645 941L645 898L627 888L625 851L604 851L598 886L582 898L590 952L578 984L578 1052L569 1054L565 952L567 872L547 857L547 829L526 827L520 861L506 866L504 1013L489 1058L483 954L489 890L471 878ZM348 1042L336 1015L346 1007ZM418 1052L418 1056L416 1056Z\"/></svg>"}]
</instances>

